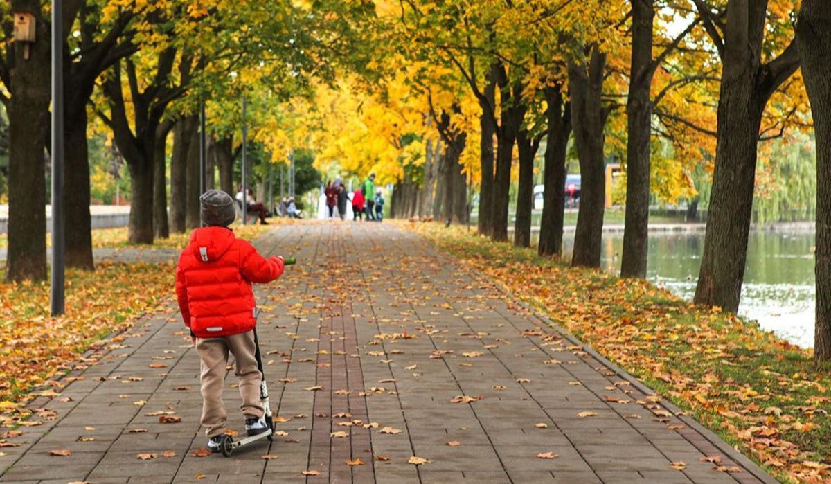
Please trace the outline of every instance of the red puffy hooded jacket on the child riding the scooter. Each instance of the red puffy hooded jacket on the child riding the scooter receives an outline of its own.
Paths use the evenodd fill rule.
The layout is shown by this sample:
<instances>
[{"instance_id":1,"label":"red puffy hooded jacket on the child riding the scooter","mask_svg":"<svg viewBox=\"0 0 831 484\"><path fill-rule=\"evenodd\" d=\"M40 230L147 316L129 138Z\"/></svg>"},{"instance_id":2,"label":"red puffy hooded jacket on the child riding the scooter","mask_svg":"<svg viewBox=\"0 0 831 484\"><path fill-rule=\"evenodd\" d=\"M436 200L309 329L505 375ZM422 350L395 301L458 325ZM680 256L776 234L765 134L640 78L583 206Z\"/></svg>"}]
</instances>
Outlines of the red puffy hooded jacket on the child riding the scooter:
<instances>
[{"instance_id":1,"label":"red puffy hooded jacket on the child riding the scooter","mask_svg":"<svg viewBox=\"0 0 831 484\"><path fill-rule=\"evenodd\" d=\"M176 299L185 326L199 338L250 331L257 323L251 284L281 274L283 259L264 259L230 229L194 230L176 268Z\"/></svg>"}]
</instances>

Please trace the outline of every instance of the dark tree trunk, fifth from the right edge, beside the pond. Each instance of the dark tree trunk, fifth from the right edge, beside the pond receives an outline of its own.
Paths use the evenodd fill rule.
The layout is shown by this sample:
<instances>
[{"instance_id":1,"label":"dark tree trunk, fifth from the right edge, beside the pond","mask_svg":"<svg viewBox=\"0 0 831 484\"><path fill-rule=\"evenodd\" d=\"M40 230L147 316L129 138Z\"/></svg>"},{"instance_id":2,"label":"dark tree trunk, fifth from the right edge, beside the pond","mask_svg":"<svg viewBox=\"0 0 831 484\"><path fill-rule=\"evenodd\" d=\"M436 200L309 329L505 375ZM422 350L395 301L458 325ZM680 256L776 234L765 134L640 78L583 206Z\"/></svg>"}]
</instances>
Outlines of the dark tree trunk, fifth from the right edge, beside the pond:
<instances>
[{"instance_id":1,"label":"dark tree trunk, fifth from the right edge, beside the pond","mask_svg":"<svg viewBox=\"0 0 831 484\"><path fill-rule=\"evenodd\" d=\"M545 89L548 103L548 138L545 146L545 191L539 224L540 255L563 254L563 210L566 200L566 149L571 134L571 106L563 107L560 86Z\"/></svg>"}]
</instances>

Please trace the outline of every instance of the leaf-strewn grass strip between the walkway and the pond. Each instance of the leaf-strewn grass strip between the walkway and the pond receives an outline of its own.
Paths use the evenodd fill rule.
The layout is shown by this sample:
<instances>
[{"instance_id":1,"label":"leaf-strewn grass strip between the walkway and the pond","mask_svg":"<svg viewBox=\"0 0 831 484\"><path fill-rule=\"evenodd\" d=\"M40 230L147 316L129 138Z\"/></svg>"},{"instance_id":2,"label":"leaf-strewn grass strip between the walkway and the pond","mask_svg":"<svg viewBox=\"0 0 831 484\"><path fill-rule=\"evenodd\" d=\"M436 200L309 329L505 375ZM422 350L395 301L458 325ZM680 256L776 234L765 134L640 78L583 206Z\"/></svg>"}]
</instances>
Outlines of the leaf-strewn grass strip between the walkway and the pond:
<instances>
[{"instance_id":1,"label":"leaf-strewn grass strip between the walkway and the pond","mask_svg":"<svg viewBox=\"0 0 831 484\"><path fill-rule=\"evenodd\" d=\"M831 366L754 322L475 231L402 223L695 415L786 482L831 482Z\"/></svg>"}]
</instances>

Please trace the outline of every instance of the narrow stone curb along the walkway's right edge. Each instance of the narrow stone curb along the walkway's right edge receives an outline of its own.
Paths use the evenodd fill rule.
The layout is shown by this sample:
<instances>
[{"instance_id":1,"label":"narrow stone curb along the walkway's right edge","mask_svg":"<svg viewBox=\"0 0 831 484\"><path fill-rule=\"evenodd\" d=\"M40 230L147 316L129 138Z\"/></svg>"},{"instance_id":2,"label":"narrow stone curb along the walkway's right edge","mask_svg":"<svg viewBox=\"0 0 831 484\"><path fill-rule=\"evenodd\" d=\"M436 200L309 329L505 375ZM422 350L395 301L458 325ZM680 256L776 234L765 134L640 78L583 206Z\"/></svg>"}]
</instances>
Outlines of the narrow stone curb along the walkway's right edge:
<instances>
[{"instance_id":1,"label":"narrow stone curb along the walkway's right edge","mask_svg":"<svg viewBox=\"0 0 831 484\"><path fill-rule=\"evenodd\" d=\"M481 279L479 274L476 274L477 279ZM563 338L568 339L569 342L573 343L575 346L580 346L583 348L583 351L590 354L593 358L597 359L598 362L602 363L603 366L609 368L614 373L617 374L618 377L623 378L627 382L631 383L633 387L640 390L642 393L656 395L657 393L652 388L647 387L644 383L640 380L632 376L632 374L628 373L623 368L618 367L615 363L612 363L608 360L608 358L604 357L602 354L597 353L597 351L588 346L588 344L583 343L578 338L573 336L572 333L566 331L562 326L558 323L553 322L548 316L545 314L541 314L537 309L534 309L529 304L525 303L523 300L517 298L513 293L511 293L507 288L505 288L502 284L497 284L494 282L488 282L488 284L492 284L495 289L498 289L499 292L505 294L510 299L512 299L516 304L519 304L523 309L529 311L531 314L534 314L534 317L538 318L543 323L548 324L549 328L553 328L554 331L563 335ZM709 428L704 427L696 421L695 418L689 417L684 415L683 410L681 408L676 407L673 403L666 400L666 398L661 398L661 405L666 407L667 410L672 412L676 417L681 419L687 426L691 427L692 429L699 432L702 437L705 437L708 442L713 444L717 447L721 452L724 452L727 457L730 457L733 461L738 463L741 467L745 468L745 471L750 473L753 477L759 479L761 482L765 482L765 484L778 484L779 481L771 476L768 472L765 472L764 469L759 467L758 464L751 461L748 457L745 457L744 454L736 450L734 447L731 447L730 444L721 440L721 438L715 435ZM681 413L681 415L679 415Z\"/></svg>"}]
</instances>

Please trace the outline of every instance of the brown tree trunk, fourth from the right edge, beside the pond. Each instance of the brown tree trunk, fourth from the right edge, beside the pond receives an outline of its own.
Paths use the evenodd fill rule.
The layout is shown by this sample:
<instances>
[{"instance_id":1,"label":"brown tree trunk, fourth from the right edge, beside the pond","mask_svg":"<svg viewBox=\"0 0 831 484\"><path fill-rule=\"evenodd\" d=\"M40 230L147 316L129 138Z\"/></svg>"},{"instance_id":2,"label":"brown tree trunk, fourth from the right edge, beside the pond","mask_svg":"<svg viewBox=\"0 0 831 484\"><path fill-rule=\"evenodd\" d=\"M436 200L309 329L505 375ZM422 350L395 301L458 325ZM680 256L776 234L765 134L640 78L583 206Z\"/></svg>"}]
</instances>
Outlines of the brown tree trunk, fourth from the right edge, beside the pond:
<instances>
[{"instance_id":1,"label":"brown tree trunk, fourth from the right edge, beside the pond","mask_svg":"<svg viewBox=\"0 0 831 484\"><path fill-rule=\"evenodd\" d=\"M600 267L603 210L606 198L603 127L607 110L602 105L606 54L592 49L588 66L570 62L568 91L571 95L574 141L580 161L581 193L573 266Z\"/></svg>"}]
</instances>

